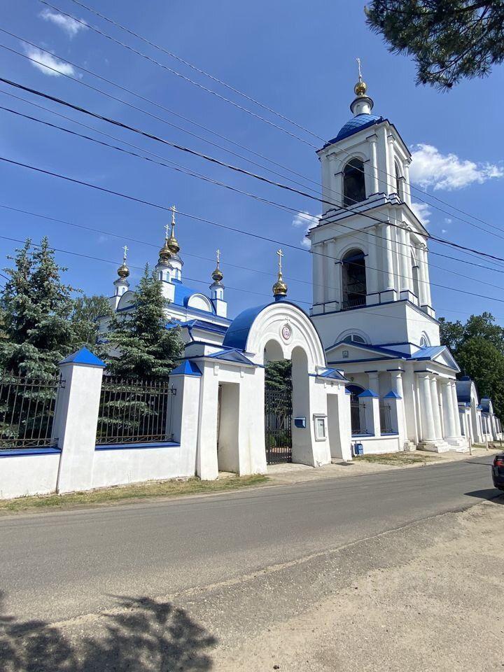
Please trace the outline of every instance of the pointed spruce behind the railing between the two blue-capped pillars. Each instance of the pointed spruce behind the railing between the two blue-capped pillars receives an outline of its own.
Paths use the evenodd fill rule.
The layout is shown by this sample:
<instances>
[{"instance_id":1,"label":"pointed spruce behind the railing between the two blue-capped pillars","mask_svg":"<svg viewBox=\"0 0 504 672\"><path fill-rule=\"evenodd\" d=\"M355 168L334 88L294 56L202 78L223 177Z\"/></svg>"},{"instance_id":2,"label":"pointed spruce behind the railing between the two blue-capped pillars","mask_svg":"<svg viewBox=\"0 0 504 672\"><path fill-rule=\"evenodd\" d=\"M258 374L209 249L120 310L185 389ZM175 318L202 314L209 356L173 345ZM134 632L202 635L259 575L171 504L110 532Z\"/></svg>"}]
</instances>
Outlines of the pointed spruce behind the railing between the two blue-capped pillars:
<instances>
[{"instance_id":1,"label":"pointed spruce behind the railing between the two blue-capped pillars","mask_svg":"<svg viewBox=\"0 0 504 672\"><path fill-rule=\"evenodd\" d=\"M133 301L134 309L116 314L111 321L109 345L120 356L108 357L108 369L124 378L166 378L182 356L183 344L179 328L165 328L162 283L148 266Z\"/></svg>"}]
</instances>

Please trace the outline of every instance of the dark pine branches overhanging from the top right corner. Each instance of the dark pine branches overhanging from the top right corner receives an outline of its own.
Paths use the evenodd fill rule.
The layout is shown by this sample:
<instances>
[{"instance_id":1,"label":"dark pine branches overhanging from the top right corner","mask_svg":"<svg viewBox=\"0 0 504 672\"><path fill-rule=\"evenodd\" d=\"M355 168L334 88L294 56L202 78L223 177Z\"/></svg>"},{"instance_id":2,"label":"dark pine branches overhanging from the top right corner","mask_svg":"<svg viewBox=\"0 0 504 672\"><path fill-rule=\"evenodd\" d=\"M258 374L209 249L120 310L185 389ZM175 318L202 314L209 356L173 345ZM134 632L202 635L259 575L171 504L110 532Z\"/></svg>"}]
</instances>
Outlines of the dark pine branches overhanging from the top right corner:
<instances>
[{"instance_id":1,"label":"dark pine branches overhanging from the top right corner","mask_svg":"<svg viewBox=\"0 0 504 672\"><path fill-rule=\"evenodd\" d=\"M449 89L504 60L504 0L372 0L367 25L412 56L417 81Z\"/></svg>"}]
</instances>

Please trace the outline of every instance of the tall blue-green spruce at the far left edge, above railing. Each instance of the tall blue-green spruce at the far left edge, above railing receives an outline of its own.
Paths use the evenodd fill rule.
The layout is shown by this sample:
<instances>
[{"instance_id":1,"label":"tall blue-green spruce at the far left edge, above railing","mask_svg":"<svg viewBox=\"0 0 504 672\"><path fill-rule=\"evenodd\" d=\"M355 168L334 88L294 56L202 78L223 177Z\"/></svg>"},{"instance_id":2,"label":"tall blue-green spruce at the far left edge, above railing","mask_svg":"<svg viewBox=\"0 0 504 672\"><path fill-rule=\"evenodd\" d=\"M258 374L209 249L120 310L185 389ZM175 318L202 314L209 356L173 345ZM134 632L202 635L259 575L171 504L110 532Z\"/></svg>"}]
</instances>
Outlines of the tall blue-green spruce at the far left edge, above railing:
<instances>
[{"instance_id":1,"label":"tall blue-green spruce at the far left edge, above railing","mask_svg":"<svg viewBox=\"0 0 504 672\"><path fill-rule=\"evenodd\" d=\"M59 274L66 269L55 262L46 237L35 248L27 239L11 259L1 297L0 365L15 374L50 377L73 346L73 289L62 283Z\"/></svg>"}]
</instances>

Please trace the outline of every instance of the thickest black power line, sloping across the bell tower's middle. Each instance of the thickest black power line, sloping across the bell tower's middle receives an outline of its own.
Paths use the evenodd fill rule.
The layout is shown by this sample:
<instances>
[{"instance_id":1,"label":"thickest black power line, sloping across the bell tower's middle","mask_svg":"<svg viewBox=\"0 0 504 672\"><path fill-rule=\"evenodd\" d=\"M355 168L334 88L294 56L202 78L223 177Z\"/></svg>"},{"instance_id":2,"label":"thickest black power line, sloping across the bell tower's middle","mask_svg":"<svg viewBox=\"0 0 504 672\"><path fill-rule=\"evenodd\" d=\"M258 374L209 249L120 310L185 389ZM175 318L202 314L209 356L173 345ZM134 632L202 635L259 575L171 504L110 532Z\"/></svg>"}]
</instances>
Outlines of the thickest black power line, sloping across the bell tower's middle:
<instances>
[{"instance_id":1,"label":"thickest black power line, sloping across the bell tower's middle","mask_svg":"<svg viewBox=\"0 0 504 672\"><path fill-rule=\"evenodd\" d=\"M202 152L196 151L196 150L194 150L194 149L191 149L191 148L188 148L188 147L185 147L185 146L182 146L182 145L173 143L173 142L171 142L171 141L168 141L168 140L166 140L166 139L164 139L164 138L160 138L160 137L158 137L158 136L155 136L155 135L153 135L153 134L151 134L151 133L149 133L149 132L146 132L146 131L144 131L144 130L137 129L137 128L135 128L135 127L132 127L132 126L130 126L130 125L127 125L127 124L125 124L125 123L123 123L123 122L120 122L120 121L118 121L118 120L111 119L111 118L109 118L109 117L106 117L106 116L103 116L103 115L101 115L101 114L98 114L98 113L92 112L92 111L90 111L90 110L87 110L87 109L85 109L85 108L83 108L83 107L74 105L74 104L69 103L69 102L67 102L67 101L64 101L63 99L59 99L59 98L57 98L57 97L55 97L55 96L51 96L50 94L46 94L46 93L40 92L40 91L38 91L38 90L36 90L36 89L32 89L31 87L27 87L27 86L25 86L25 85L22 85L22 84L13 82L13 81L8 80L8 79L3 78L3 77L0 77L0 81L3 82L3 83L8 84L8 85L10 85L10 86L16 87L16 88L18 88L18 89L21 89L21 90L24 90L24 91L33 93L34 95L37 95L37 96L39 96L39 97L43 97L44 99L48 99L48 100L51 100L52 102L56 102L56 103L61 104L61 105L63 105L63 106L69 107L70 109L76 110L76 111L78 111L78 112L82 112L82 113L87 114L88 116L91 116L91 117L93 117L93 118L97 118L97 119L99 119L99 120L106 121L107 123L110 123L111 125L115 125L115 126L118 126L118 127L120 127L120 128L124 128L124 129L126 129L126 130L130 130L130 131L132 131L132 132L134 132L134 133L137 133L137 134L139 134L139 135L141 135L141 136L143 136L143 137L147 137L147 138L149 138L149 139L152 139L152 140L158 141L158 142L160 142L160 143L162 143L162 144L165 144L165 145L167 145L167 146L169 146L169 147L178 149L179 151L183 151L183 152L188 153L188 154L190 154L190 155L197 156L197 157L199 157L199 158L202 158L202 159L204 159L204 160L207 160L207 161L209 161L209 162L211 162L211 163L214 163L214 164L216 164L216 165L220 165L221 167L228 168L228 169L230 169L230 170L232 170L232 171L234 171L234 172L237 172L237 173L239 173L239 174L243 174L243 175L246 175L246 176L249 176L249 177L253 177L254 179L257 179L258 181L267 183L267 184L269 184L269 185L271 185L271 186L276 186L276 187L281 188L281 189L283 189L283 190L286 190L286 191L288 191L288 192L290 192L290 193L295 193L295 194L297 194L297 195L301 195L301 196L307 197L307 198L309 198L309 199L311 199L311 200L316 200L317 202L328 203L328 204L334 205L334 206L337 207L338 209L344 210L344 211L346 211L346 212L350 212L351 214L356 214L356 213L357 213L357 214L359 214L360 216L365 217L365 218L367 218L367 219L370 219L371 221L377 222L377 223L379 223L379 224L384 224L384 225L391 226L392 228L398 228L398 229L404 230L400 225L391 223L391 222L389 222L389 221L381 220L381 219L379 219L379 218L377 218L377 217L374 217L374 216L372 216L372 215L370 215L370 214L367 214L367 213L365 213L365 212L363 212L363 211L356 211L355 209L351 209L351 208L349 208L349 207L345 207L345 206L339 206L339 205L337 205L337 204L335 204L335 203L332 203L332 202L330 202L330 201L327 201L327 200L325 200L325 199L320 199L320 198L318 198L318 197L314 197L314 196L312 196L312 195L310 195L310 194L307 194L306 192L302 192L302 191L300 191L300 190L298 190L298 189L295 189L295 188L290 187L290 186L288 186L288 185L285 185L285 184L283 184L283 183L275 182L275 181L270 180L269 178L267 178L267 177L265 177L265 176L262 176L262 175L259 175L259 174L250 172L250 171L248 171L248 170L246 170L246 169L244 169L244 168L240 168L240 167L235 166L235 165L232 165L232 164L228 164L228 163L223 162L223 161L221 161L221 160L219 160L219 159L216 159L215 157L212 157L212 156L210 156L210 155L207 155L207 154L204 154L204 153L202 153ZM338 223L336 222L336 223L334 223L334 224L337 225ZM458 243L455 243L454 241L449 241L449 240L444 239L444 238L440 238L440 237L437 237L437 236L433 236L432 234L429 234L428 232L426 232L425 234L423 234L423 237L426 238L426 239L430 239L430 240L437 241L437 242L439 242L439 243L441 243L441 244L444 244L444 245L452 246L452 247L457 248L457 249L461 249L461 250L466 250L466 251L470 251L470 252L477 253L477 254L479 254L479 255L484 256L485 258L489 258L489 259L493 259L493 260L498 260L498 261L504 261L503 258L500 258L500 257L498 257L498 256L496 256L496 255L491 255L491 254L486 253L486 252L483 252L483 251L479 251L479 250L475 250L475 249L472 249L472 248L465 247L465 246L463 246L463 245L460 245L460 244L458 244Z\"/></svg>"}]
</instances>

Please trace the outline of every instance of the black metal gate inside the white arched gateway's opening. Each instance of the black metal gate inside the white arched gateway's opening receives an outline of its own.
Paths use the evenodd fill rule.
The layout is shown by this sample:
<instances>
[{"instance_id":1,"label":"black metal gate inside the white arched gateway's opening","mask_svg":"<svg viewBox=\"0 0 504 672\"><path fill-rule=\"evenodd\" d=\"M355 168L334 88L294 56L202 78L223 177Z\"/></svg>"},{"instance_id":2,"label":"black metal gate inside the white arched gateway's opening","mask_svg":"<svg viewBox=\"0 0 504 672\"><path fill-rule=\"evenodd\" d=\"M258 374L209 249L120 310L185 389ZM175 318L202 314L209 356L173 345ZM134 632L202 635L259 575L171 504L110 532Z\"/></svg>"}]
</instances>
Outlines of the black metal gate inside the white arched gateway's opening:
<instances>
[{"instance_id":1,"label":"black metal gate inside the white arched gateway's opening","mask_svg":"<svg viewBox=\"0 0 504 672\"><path fill-rule=\"evenodd\" d=\"M292 461L292 399L290 390L265 389L265 442L268 464Z\"/></svg>"}]
</instances>

